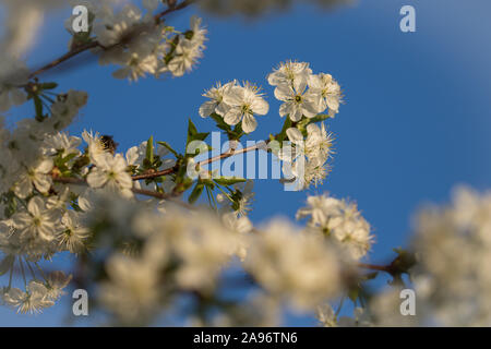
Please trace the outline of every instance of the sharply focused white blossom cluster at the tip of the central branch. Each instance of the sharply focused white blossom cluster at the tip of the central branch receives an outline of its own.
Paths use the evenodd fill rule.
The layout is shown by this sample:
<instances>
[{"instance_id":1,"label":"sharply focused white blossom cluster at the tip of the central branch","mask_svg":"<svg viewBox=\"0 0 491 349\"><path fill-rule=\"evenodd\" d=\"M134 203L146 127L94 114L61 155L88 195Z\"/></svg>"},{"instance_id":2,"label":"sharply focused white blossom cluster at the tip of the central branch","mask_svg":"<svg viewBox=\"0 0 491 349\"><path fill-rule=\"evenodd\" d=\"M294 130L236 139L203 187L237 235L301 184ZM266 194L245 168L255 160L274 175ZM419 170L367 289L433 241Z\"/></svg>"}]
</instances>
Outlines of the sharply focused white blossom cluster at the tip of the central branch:
<instances>
[{"instance_id":1,"label":"sharply focused white blossom cluster at the tip of the central branch","mask_svg":"<svg viewBox=\"0 0 491 349\"><path fill-rule=\"evenodd\" d=\"M286 133L275 140L282 142L287 137L292 144L273 148L284 161L285 177L296 180L298 190L307 189L311 183L322 184L328 173L333 137L323 123L318 125L316 122L333 118L339 111L343 97L339 84L332 75L313 74L309 63L296 61L282 63L267 81L275 86L275 97L283 101L279 115L287 117ZM218 83L203 96L208 100L200 107L202 118L213 117L215 121L219 120L218 124L223 121L225 127L236 127L244 133L256 129L254 116L264 116L270 110L264 94L249 82L243 86L237 81ZM326 109L328 115L322 115Z\"/></svg>"}]
</instances>

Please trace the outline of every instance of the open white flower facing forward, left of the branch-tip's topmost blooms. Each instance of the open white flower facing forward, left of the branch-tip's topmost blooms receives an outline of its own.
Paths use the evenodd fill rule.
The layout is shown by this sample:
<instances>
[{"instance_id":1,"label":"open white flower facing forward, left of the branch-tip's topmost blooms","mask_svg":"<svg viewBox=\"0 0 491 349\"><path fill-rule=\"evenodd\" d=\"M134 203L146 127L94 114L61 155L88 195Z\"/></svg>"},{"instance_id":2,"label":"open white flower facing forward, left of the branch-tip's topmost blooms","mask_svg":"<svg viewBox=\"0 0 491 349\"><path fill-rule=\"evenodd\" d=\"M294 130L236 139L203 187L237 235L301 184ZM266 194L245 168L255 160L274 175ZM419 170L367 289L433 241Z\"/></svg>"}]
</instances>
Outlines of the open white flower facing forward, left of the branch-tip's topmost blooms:
<instances>
[{"instance_id":1,"label":"open white flower facing forward, left of the branch-tip's topmost blooms","mask_svg":"<svg viewBox=\"0 0 491 349\"><path fill-rule=\"evenodd\" d=\"M224 101L230 107L224 116L224 121L235 125L242 121L242 130L251 133L258 127L254 115L264 116L270 105L259 93L259 88L249 83L244 86L232 86L224 95Z\"/></svg>"}]
</instances>

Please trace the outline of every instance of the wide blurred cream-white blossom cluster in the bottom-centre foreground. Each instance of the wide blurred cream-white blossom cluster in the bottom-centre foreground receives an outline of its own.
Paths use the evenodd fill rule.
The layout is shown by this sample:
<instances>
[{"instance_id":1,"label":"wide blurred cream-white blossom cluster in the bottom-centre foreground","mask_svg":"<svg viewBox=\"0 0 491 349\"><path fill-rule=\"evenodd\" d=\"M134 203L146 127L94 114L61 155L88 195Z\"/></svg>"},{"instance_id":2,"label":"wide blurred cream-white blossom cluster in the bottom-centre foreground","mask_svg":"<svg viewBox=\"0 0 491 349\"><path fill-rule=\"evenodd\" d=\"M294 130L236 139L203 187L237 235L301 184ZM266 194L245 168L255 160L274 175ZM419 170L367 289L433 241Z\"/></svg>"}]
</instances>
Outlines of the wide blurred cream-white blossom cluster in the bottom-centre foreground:
<instances>
[{"instance_id":1,"label":"wide blurred cream-white blossom cluster in the bottom-centre foreground","mask_svg":"<svg viewBox=\"0 0 491 349\"><path fill-rule=\"evenodd\" d=\"M285 304L302 312L313 310L336 298L345 287L350 257L328 240L301 232L288 220L253 228L247 216L236 212L188 210L171 203L155 212L149 208L156 203L135 205L107 192L94 203L94 214L86 224L94 227L95 241L101 248L116 244L100 261L108 277L94 292L120 323L146 323L161 312L171 312L187 293L199 303L219 302L227 270L238 266L244 273L244 289L250 289L251 303L247 304L254 309L258 302L267 304L251 315L278 314ZM242 301L230 306L238 313L208 318L213 317L211 312L199 321L237 325L251 311L243 309ZM196 321L195 315L191 311L189 320ZM258 317L248 317L248 323L275 323L275 316L270 321Z\"/></svg>"}]
</instances>

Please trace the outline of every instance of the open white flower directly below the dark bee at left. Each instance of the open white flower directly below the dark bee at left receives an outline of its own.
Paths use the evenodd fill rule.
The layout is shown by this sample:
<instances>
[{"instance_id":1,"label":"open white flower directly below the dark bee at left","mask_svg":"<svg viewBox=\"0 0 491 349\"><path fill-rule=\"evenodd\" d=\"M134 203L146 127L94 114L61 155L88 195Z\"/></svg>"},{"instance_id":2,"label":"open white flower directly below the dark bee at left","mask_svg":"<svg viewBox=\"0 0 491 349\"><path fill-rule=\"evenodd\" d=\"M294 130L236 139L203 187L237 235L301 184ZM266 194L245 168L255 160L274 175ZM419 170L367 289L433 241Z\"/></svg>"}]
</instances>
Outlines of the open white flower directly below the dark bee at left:
<instances>
[{"instance_id":1,"label":"open white flower directly below the dark bee at left","mask_svg":"<svg viewBox=\"0 0 491 349\"><path fill-rule=\"evenodd\" d=\"M107 188L120 191L124 196L132 196L133 180L128 173L128 165L121 154L112 156L104 153L97 157L96 167L87 176L92 188Z\"/></svg>"}]
</instances>

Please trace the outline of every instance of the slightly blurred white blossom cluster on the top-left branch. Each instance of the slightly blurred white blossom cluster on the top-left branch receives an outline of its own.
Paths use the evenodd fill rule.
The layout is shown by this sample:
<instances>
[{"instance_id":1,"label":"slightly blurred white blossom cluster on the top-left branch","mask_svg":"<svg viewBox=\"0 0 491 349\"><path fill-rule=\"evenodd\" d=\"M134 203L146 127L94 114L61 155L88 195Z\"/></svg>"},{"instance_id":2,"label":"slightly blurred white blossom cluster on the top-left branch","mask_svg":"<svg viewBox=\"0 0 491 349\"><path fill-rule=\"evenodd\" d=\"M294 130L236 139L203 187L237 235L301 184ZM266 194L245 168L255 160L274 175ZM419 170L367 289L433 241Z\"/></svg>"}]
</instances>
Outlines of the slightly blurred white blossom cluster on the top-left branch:
<instances>
[{"instance_id":1,"label":"slightly blurred white blossom cluster on the top-left branch","mask_svg":"<svg viewBox=\"0 0 491 349\"><path fill-rule=\"evenodd\" d=\"M137 81L146 74L159 77L166 73L182 76L197 63L205 48L202 20L193 16L190 29L179 32L158 19L159 1L143 1L145 13L132 3L116 9L108 0L72 3L88 9L91 23L88 33L73 33L74 16L65 21L73 35L70 46L97 41L99 48L93 51L99 55L99 63L121 67L112 73L117 79Z\"/></svg>"}]
</instances>

